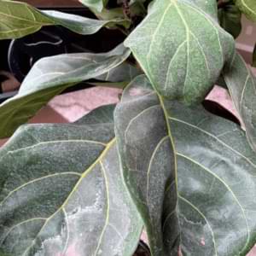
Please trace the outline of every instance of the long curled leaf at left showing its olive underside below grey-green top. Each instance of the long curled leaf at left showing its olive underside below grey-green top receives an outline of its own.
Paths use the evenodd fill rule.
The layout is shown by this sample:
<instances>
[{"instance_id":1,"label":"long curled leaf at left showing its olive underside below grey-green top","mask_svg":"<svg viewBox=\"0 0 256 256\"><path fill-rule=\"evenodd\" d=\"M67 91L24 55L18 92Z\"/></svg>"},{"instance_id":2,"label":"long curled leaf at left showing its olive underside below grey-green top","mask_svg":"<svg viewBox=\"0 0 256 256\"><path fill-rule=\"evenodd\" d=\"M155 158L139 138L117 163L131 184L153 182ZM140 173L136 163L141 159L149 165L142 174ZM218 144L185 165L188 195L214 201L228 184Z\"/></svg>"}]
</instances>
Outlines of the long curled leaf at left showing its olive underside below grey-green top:
<instances>
[{"instance_id":1,"label":"long curled leaf at left showing its olive underside below grey-green top","mask_svg":"<svg viewBox=\"0 0 256 256\"><path fill-rule=\"evenodd\" d=\"M108 73L129 55L130 50L121 44L103 54L79 53L41 59L26 76L19 93L0 105L0 137L9 137L62 90Z\"/></svg>"}]
</instances>

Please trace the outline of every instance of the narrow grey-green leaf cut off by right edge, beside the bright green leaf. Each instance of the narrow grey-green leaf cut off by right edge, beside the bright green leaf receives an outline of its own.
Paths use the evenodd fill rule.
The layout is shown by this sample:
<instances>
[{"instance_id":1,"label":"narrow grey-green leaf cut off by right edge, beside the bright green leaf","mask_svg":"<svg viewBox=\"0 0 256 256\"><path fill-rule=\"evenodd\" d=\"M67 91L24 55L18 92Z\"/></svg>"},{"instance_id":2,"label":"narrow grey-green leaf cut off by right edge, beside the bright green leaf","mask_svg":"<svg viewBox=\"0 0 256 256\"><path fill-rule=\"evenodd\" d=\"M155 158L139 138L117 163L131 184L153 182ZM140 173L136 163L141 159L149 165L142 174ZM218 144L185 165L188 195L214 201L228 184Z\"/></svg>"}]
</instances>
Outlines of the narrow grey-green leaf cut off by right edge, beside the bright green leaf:
<instances>
[{"instance_id":1,"label":"narrow grey-green leaf cut off by right edge, beside the bright green leaf","mask_svg":"<svg viewBox=\"0 0 256 256\"><path fill-rule=\"evenodd\" d=\"M248 141L256 151L256 79L238 53L225 67L224 80L245 125Z\"/></svg>"}]
</instances>

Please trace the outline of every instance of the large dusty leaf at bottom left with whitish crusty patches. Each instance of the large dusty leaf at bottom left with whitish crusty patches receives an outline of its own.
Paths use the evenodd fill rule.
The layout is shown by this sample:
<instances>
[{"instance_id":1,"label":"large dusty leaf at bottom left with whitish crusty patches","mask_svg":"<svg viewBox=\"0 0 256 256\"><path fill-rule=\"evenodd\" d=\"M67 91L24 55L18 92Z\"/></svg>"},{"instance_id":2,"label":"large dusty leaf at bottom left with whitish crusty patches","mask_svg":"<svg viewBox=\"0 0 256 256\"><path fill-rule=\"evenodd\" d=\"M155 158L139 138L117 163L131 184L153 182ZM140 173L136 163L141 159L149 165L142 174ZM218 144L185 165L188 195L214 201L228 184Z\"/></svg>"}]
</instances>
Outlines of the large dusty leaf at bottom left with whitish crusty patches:
<instances>
[{"instance_id":1,"label":"large dusty leaf at bottom left with whitish crusty patches","mask_svg":"<svg viewBox=\"0 0 256 256\"><path fill-rule=\"evenodd\" d=\"M130 256L142 221L121 176L113 106L16 131L0 151L0 201L2 253Z\"/></svg>"}]
</instances>

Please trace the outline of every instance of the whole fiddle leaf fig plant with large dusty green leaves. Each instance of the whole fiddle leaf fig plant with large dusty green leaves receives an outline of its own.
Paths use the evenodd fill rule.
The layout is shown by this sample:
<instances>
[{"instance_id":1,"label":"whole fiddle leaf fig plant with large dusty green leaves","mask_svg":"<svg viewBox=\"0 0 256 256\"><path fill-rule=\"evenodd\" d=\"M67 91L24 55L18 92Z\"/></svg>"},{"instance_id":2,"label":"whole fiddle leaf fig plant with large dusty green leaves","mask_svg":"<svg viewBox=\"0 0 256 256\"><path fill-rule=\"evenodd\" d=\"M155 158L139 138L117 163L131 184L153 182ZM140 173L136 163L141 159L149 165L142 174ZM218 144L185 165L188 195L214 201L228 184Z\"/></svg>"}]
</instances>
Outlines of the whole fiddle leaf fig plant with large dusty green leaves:
<instances>
[{"instance_id":1,"label":"whole fiddle leaf fig plant with large dusty green leaves","mask_svg":"<svg viewBox=\"0 0 256 256\"><path fill-rule=\"evenodd\" d=\"M0 0L0 38L117 30L108 52L45 57L0 105L0 255L247 255L256 243L256 81L236 50L253 0L81 0L84 18ZM104 38L102 38L102 41ZM73 124L26 125L79 83L122 89ZM242 127L205 108L229 91ZM86 99L84 99L85 101Z\"/></svg>"}]
</instances>

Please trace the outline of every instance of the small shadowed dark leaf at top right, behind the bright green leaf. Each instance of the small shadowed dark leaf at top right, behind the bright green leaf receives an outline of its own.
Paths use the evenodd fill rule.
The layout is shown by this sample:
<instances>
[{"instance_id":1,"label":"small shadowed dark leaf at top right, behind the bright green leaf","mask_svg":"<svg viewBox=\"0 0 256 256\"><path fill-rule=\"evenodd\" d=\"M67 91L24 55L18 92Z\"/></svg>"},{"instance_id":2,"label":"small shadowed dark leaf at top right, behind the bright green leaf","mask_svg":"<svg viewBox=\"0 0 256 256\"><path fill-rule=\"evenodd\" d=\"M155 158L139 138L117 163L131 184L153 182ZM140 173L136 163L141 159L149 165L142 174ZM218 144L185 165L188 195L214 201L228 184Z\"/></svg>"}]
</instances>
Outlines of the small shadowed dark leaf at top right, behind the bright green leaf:
<instances>
[{"instance_id":1,"label":"small shadowed dark leaf at top right, behind the bright green leaf","mask_svg":"<svg viewBox=\"0 0 256 256\"><path fill-rule=\"evenodd\" d=\"M241 33L241 11L234 3L226 4L224 8L218 9L218 20L220 26L229 32L234 38Z\"/></svg>"}]
</instances>

